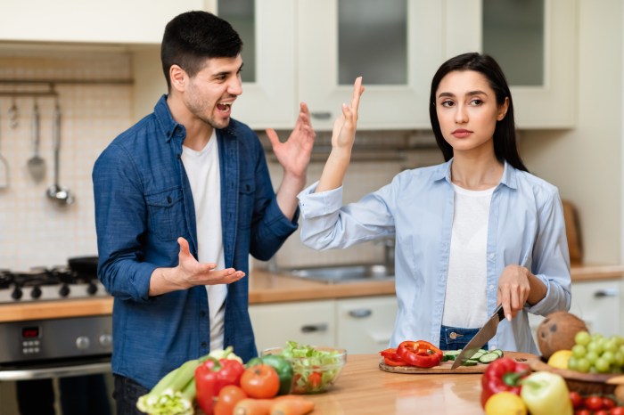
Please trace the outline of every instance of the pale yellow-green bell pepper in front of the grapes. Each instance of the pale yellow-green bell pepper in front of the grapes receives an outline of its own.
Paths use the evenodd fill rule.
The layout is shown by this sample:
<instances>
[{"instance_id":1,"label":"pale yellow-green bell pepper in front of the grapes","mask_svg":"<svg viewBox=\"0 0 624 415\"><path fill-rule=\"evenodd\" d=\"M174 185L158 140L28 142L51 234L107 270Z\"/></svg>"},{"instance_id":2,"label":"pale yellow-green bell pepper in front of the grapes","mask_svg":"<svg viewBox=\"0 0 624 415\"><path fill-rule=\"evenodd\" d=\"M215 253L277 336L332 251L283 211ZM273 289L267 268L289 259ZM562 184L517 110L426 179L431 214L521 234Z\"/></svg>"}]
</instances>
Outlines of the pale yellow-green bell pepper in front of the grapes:
<instances>
[{"instance_id":1,"label":"pale yellow-green bell pepper in front of the grapes","mask_svg":"<svg viewBox=\"0 0 624 415\"><path fill-rule=\"evenodd\" d=\"M521 398L531 415L572 415L565 379L549 371L536 371L521 381Z\"/></svg>"}]
</instances>

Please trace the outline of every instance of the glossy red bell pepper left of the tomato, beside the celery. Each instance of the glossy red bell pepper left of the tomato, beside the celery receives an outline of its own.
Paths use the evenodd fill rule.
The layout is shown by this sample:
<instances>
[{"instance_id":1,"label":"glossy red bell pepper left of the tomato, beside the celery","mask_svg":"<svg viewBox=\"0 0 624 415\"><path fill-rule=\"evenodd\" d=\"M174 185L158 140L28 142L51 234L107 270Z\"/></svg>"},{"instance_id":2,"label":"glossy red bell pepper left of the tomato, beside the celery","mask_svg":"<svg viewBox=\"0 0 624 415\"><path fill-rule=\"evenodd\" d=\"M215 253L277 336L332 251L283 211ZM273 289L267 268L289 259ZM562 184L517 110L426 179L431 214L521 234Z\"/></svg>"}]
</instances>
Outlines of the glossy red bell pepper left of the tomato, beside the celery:
<instances>
[{"instance_id":1,"label":"glossy red bell pepper left of the tomato, beside the celery","mask_svg":"<svg viewBox=\"0 0 624 415\"><path fill-rule=\"evenodd\" d=\"M241 385L245 367L233 359L209 358L195 369L195 399L201 411L212 414L214 398L227 385Z\"/></svg>"}]
</instances>

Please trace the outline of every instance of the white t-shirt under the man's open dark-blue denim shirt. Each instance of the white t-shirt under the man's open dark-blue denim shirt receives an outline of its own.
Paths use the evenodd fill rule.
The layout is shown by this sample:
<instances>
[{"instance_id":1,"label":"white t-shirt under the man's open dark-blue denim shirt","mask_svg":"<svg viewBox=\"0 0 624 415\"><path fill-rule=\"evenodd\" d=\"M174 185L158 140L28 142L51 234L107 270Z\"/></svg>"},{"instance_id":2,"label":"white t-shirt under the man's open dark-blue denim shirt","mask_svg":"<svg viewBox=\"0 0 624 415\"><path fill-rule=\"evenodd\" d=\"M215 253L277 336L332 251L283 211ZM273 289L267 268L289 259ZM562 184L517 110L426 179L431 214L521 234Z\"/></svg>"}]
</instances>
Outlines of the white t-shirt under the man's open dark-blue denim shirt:
<instances>
[{"instance_id":1,"label":"white t-shirt under the man's open dark-blue denim shirt","mask_svg":"<svg viewBox=\"0 0 624 415\"><path fill-rule=\"evenodd\" d=\"M201 263L217 263L226 267L221 232L221 184L217 134L213 131L201 151L182 147L182 162L191 183L197 222L197 253ZM223 349L226 315L226 284L207 285L210 318L210 350Z\"/></svg>"}]
</instances>

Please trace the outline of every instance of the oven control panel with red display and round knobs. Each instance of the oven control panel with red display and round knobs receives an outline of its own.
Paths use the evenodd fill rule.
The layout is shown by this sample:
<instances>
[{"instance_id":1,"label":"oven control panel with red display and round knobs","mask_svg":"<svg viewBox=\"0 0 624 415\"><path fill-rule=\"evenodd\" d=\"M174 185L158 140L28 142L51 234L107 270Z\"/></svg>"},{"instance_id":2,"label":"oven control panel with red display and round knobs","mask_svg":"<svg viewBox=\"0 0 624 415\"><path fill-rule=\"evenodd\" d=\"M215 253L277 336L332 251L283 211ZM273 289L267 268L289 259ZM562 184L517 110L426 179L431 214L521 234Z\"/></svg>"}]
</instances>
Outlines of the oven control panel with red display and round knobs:
<instances>
[{"instance_id":1,"label":"oven control panel with red display and round knobs","mask_svg":"<svg viewBox=\"0 0 624 415\"><path fill-rule=\"evenodd\" d=\"M0 323L0 364L112 353L112 317Z\"/></svg>"}]
</instances>

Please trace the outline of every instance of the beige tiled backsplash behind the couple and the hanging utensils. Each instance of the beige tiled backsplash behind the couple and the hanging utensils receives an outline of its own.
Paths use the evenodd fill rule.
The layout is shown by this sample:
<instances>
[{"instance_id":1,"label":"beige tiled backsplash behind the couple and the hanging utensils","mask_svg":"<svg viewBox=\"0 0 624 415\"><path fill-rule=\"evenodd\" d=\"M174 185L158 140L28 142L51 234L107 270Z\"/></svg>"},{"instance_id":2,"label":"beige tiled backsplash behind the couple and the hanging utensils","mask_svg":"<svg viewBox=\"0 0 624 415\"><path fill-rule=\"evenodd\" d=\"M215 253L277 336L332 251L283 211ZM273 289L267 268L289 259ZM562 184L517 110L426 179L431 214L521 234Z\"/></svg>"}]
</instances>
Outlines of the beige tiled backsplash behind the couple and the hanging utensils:
<instances>
[{"instance_id":1,"label":"beige tiled backsplash behind the couple and the hanging utensils","mask_svg":"<svg viewBox=\"0 0 624 415\"><path fill-rule=\"evenodd\" d=\"M33 155L31 142L32 96L5 95L8 91L45 91L46 84L31 85L0 82L0 152L10 168L10 184L0 190L0 269L26 271L35 266L66 264L72 256L97 255L91 172L101 151L121 131L133 123L133 87L123 81L132 77L130 53L118 51L77 52L24 51L0 45L0 80L59 80L54 88L62 111L61 169L59 183L75 196L73 205L59 207L46 197L53 184L51 96L37 98L41 113L40 155L45 159L45 179L36 183L29 175L27 161ZM96 80L117 79L119 84ZM92 80L93 83L78 81ZM73 83L72 83L73 82ZM18 124L10 125L9 109L18 108ZM242 119L244 121L244 119ZM285 139L290 132L279 132ZM329 142L329 133L318 133L318 148ZM431 145L433 139L414 132L358 132L359 142L382 142L388 147L397 142ZM261 136L263 139L266 137ZM380 140L382 138L382 140ZM365 159L349 167L344 201L354 201L374 191L404 168L429 165L441 160L439 151L370 151ZM398 157L400 156L400 157ZM309 183L321 174L326 153L315 154L310 164ZM282 168L268 157L274 186L281 182ZM354 248L318 252L306 248L296 232L275 256L280 267L309 264L361 263L382 259L380 244L365 243ZM259 267L267 266L256 263Z\"/></svg>"}]
</instances>

